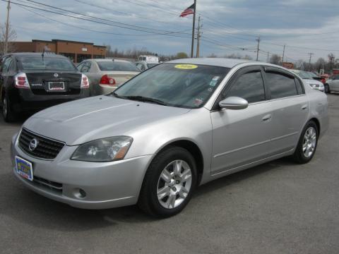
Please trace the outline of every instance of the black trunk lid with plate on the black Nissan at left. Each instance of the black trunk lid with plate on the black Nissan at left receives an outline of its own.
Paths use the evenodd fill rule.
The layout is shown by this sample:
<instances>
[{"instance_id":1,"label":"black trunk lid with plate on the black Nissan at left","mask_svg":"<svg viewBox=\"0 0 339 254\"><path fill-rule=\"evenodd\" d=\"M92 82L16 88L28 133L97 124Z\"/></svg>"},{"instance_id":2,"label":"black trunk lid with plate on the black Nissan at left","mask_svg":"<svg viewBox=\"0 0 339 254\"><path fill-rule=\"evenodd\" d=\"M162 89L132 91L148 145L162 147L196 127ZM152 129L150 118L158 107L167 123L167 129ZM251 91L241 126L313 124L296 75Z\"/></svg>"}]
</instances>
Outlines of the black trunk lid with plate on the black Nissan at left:
<instances>
[{"instance_id":1,"label":"black trunk lid with plate on the black Nissan at left","mask_svg":"<svg viewBox=\"0 0 339 254\"><path fill-rule=\"evenodd\" d=\"M35 95L78 95L81 92L81 73L77 71L25 73Z\"/></svg>"}]
</instances>

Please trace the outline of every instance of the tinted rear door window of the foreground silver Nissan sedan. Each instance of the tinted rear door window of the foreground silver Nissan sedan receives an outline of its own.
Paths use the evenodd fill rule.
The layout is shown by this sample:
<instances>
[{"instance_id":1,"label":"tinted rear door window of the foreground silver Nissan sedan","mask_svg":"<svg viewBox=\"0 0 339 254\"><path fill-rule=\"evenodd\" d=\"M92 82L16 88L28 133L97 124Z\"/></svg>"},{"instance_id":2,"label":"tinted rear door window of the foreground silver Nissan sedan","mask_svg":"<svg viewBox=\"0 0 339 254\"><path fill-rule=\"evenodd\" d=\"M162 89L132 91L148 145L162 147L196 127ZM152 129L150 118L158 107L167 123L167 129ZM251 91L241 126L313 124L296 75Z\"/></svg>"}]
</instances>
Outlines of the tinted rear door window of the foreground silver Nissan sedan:
<instances>
[{"instance_id":1,"label":"tinted rear door window of the foreground silver Nissan sedan","mask_svg":"<svg viewBox=\"0 0 339 254\"><path fill-rule=\"evenodd\" d=\"M278 99L298 95L295 78L280 72L266 72L270 98Z\"/></svg>"}]
</instances>

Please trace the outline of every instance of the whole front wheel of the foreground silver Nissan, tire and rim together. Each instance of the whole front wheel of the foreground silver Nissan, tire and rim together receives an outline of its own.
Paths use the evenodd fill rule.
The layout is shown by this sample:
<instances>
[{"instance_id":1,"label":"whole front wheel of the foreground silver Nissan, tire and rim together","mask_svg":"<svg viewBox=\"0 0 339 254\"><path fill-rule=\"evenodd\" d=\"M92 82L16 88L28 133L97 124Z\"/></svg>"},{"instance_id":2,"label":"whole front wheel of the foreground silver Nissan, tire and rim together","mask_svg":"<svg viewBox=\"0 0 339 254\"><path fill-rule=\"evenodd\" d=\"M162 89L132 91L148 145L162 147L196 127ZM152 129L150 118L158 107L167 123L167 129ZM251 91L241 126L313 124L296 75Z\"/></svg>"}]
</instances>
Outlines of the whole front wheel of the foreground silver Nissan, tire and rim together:
<instances>
[{"instance_id":1,"label":"whole front wheel of the foreground silver Nissan, tire and rim together","mask_svg":"<svg viewBox=\"0 0 339 254\"><path fill-rule=\"evenodd\" d=\"M169 147L148 167L138 205L155 217L173 216L191 199L196 179L194 157L182 147Z\"/></svg>"}]
</instances>

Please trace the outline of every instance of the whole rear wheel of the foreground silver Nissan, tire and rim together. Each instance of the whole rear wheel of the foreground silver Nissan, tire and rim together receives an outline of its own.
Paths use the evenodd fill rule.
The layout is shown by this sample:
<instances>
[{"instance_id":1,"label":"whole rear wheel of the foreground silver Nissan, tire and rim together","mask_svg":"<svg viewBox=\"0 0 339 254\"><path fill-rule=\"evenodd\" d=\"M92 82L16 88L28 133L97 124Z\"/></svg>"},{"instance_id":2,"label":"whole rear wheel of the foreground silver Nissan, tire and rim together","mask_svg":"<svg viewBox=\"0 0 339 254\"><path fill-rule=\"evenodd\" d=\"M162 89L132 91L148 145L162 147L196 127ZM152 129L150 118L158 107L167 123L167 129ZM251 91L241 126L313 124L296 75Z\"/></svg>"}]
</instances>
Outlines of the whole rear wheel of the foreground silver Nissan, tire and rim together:
<instances>
[{"instance_id":1,"label":"whole rear wheel of the foreground silver Nissan, tire and rim together","mask_svg":"<svg viewBox=\"0 0 339 254\"><path fill-rule=\"evenodd\" d=\"M316 152L318 144L319 130L314 121L309 121L302 131L295 153L293 155L296 162L304 164L309 162Z\"/></svg>"}]
</instances>

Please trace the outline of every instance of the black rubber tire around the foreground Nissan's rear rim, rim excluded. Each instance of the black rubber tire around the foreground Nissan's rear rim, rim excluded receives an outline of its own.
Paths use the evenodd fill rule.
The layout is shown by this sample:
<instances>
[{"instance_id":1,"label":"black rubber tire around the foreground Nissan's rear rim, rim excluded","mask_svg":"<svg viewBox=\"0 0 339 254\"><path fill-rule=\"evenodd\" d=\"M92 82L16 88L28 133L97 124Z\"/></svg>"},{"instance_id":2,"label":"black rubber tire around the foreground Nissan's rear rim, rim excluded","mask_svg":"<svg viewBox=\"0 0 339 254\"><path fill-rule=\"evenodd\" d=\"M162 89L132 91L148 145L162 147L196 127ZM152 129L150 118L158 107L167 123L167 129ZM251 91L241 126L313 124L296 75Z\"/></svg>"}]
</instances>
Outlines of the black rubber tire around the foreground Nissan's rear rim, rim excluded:
<instances>
[{"instance_id":1,"label":"black rubber tire around the foreground Nissan's rear rim, rim excluded","mask_svg":"<svg viewBox=\"0 0 339 254\"><path fill-rule=\"evenodd\" d=\"M305 133L309 130L309 128L314 128L314 130L316 132L316 142L315 142L315 147L314 147L312 154L309 157L307 157L307 156L304 155L303 145L304 145ZM293 159L295 160L295 162L297 162L299 164L305 164L305 163L309 162L314 157L314 154L316 153L316 147L318 145L318 138L319 138L318 126L316 125L316 123L314 123L314 121L309 121L306 124L306 126L304 126L304 129L302 130L302 135L300 135L297 148L295 149L295 153L292 156Z\"/></svg>"}]
</instances>

